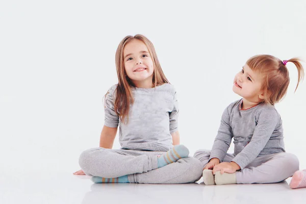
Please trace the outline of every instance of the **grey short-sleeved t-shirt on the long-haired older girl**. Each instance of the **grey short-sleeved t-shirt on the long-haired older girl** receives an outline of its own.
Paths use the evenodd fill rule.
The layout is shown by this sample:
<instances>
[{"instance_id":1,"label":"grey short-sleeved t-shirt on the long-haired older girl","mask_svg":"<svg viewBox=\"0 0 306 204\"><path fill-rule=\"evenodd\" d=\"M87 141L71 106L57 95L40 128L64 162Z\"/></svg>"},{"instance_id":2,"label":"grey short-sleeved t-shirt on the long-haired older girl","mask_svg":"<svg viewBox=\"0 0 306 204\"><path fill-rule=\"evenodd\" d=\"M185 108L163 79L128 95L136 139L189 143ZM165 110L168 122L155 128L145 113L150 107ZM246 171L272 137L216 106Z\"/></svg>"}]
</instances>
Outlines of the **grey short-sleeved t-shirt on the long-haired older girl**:
<instances>
[{"instance_id":1,"label":"grey short-sleeved t-shirt on the long-haired older girl","mask_svg":"<svg viewBox=\"0 0 306 204\"><path fill-rule=\"evenodd\" d=\"M125 124L114 110L116 88L112 86L106 96L104 125L119 124L121 148L168 151L173 146L171 134L178 130L179 104L174 86L165 83L155 88L132 88L134 103Z\"/></svg>"}]
</instances>

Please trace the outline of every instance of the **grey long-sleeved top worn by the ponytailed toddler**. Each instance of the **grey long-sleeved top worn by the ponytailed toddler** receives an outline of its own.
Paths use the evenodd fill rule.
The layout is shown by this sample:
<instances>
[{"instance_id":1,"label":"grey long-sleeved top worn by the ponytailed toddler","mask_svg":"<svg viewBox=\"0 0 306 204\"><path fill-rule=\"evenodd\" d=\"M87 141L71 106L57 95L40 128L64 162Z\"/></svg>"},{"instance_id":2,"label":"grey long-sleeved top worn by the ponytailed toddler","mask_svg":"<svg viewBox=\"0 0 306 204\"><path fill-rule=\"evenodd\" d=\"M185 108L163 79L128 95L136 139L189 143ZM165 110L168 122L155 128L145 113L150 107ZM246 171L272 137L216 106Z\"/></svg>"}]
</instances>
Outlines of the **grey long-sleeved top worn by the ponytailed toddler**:
<instances>
[{"instance_id":1,"label":"grey long-sleeved top worn by the ponytailed toddler","mask_svg":"<svg viewBox=\"0 0 306 204\"><path fill-rule=\"evenodd\" d=\"M241 110L241 102L237 100L224 110L210 159L222 162L234 138L232 161L243 169L257 157L285 152L285 145L282 119L274 106L262 103Z\"/></svg>"}]
</instances>

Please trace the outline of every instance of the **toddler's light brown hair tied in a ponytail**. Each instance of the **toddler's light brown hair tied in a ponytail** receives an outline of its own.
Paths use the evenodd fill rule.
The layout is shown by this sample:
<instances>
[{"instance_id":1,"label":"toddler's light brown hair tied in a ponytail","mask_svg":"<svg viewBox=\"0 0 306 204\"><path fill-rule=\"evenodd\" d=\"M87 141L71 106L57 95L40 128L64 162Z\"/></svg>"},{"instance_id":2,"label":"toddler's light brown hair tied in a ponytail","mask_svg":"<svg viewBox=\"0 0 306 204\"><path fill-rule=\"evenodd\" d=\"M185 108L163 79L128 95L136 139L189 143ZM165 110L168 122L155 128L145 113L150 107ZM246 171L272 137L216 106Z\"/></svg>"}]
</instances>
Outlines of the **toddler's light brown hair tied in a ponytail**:
<instances>
[{"instance_id":1,"label":"toddler's light brown hair tied in a ponytail","mask_svg":"<svg viewBox=\"0 0 306 204\"><path fill-rule=\"evenodd\" d=\"M304 69L300 61L298 58L287 61L292 62L297 68L298 79L295 91L304 78ZM246 64L263 77L262 90L265 103L274 105L284 98L290 82L286 63L271 55L257 55L248 59Z\"/></svg>"}]
</instances>

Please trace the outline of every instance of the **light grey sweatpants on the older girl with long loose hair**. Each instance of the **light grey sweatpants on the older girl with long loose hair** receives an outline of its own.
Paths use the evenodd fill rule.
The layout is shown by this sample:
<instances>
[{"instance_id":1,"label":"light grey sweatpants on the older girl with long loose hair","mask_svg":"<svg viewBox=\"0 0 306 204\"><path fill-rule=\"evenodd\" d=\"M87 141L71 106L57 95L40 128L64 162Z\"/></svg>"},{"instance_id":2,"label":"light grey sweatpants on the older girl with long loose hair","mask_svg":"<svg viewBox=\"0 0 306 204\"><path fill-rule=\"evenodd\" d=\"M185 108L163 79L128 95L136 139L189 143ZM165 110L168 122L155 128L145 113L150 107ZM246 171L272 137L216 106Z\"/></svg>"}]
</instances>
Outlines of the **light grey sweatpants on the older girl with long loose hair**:
<instances>
[{"instance_id":1,"label":"light grey sweatpants on the older girl with long loose hair","mask_svg":"<svg viewBox=\"0 0 306 204\"><path fill-rule=\"evenodd\" d=\"M82 152L80 166L90 176L115 178L127 175L130 183L183 184L200 179L202 164L193 157L157 168L165 152L92 148Z\"/></svg>"}]
</instances>

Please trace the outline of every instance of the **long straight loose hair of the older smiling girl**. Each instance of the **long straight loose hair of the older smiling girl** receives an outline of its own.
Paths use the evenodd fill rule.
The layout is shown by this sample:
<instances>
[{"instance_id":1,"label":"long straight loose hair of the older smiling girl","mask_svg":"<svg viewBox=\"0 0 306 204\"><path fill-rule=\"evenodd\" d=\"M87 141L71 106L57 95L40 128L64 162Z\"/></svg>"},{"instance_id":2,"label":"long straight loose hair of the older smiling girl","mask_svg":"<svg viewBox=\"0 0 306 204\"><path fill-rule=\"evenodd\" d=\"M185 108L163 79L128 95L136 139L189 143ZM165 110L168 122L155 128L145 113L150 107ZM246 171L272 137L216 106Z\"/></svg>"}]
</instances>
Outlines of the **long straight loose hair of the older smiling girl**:
<instances>
[{"instance_id":1,"label":"long straight loose hair of the older smiling girl","mask_svg":"<svg viewBox=\"0 0 306 204\"><path fill-rule=\"evenodd\" d=\"M141 40L148 48L150 57L154 65L153 79L152 79L154 87L156 87L157 85L169 83L162 70L160 62L156 55L154 45L151 43L151 41L149 41L149 39L147 39L145 36L139 34L135 36L129 35L124 37L118 45L118 48L116 50L116 58L115 58L117 76L118 76L118 85L115 91L116 92L115 111L117 115L120 117L121 121L123 121L123 123L125 123L125 118L126 118L126 123L129 120L130 105L134 103L132 88L133 87L135 88L135 85L130 80L130 78L127 77L124 69L123 49L127 43L131 42L134 39Z\"/></svg>"}]
</instances>

